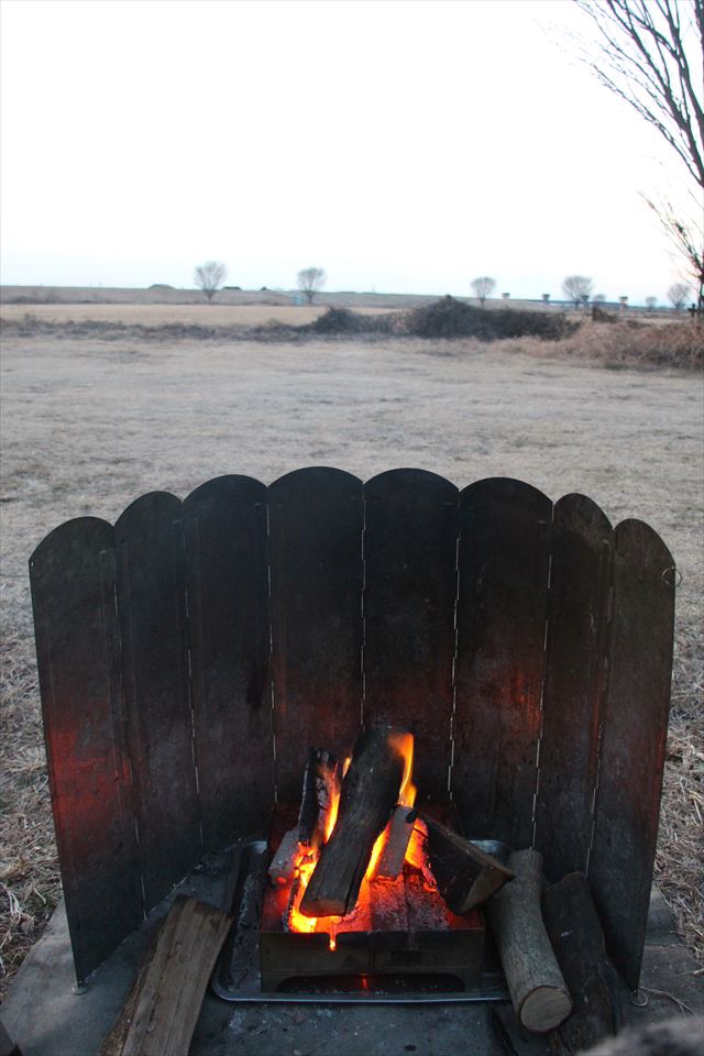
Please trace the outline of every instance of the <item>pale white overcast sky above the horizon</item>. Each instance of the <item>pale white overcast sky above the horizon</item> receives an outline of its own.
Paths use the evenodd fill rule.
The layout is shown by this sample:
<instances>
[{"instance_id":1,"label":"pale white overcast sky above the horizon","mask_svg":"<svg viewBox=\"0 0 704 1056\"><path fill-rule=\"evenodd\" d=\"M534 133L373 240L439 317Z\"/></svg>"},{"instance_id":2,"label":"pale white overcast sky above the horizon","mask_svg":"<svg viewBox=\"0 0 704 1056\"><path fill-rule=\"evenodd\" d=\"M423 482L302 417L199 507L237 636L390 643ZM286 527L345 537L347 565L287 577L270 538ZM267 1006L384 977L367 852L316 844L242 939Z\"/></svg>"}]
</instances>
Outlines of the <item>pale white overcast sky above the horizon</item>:
<instances>
[{"instance_id":1,"label":"pale white overcast sky above the horizon","mask_svg":"<svg viewBox=\"0 0 704 1056\"><path fill-rule=\"evenodd\" d=\"M664 300L674 155L570 0L4 0L2 282ZM674 188L674 189L673 189Z\"/></svg>"}]
</instances>

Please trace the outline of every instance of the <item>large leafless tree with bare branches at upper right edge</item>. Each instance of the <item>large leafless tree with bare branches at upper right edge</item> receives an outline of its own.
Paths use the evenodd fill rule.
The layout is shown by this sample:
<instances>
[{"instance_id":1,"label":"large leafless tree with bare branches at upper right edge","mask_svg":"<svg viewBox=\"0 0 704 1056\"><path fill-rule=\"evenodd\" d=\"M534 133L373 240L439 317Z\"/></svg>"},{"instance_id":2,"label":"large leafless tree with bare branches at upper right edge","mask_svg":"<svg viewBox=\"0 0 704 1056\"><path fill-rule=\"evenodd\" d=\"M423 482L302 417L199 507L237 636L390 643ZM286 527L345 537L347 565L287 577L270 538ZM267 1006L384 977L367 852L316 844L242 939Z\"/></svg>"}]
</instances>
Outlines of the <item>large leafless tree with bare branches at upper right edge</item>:
<instances>
[{"instance_id":1,"label":"large leafless tree with bare branches at upper right edge","mask_svg":"<svg viewBox=\"0 0 704 1056\"><path fill-rule=\"evenodd\" d=\"M667 199L644 196L657 213L697 290L704 310L704 0L575 0L596 29L585 61L598 80L631 106L684 166L694 206L683 218Z\"/></svg>"}]
</instances>

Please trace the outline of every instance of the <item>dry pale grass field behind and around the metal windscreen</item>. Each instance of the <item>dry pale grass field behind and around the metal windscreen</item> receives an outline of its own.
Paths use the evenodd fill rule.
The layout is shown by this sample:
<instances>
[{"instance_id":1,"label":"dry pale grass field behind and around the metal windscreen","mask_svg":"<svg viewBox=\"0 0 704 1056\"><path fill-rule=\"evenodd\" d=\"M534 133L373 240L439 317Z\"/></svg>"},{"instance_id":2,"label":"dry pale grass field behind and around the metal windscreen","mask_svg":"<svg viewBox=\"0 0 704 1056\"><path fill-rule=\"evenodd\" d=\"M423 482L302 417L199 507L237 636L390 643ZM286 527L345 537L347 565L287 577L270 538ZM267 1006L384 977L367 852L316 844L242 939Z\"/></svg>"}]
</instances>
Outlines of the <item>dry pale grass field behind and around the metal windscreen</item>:
<instances>
[{"instance_id":1,"label":"dry pale grass field behind and around the metal windscreen","mask_svg":"<svg viewBox=\"0 0 704 1056\"><path fill-rule=\"evenodd\" d=\"M58 308L46 306L54 314ZM166 308L177 310L120 308L119 320L144 310L158 324ZM15 310L38 314L40 306L2 312L9 318ZM209 317L230 310L244 309L204 306ZM298 319L307 309L288 310ZM0 506L6 971L15 970L59 897L26 573L31 551L61 521L80 514L113 521L153 488L184 497L221 473L271 482L310 464L361 477L414 465L459 485L517 476L552 498L584 492L614 522L640 517L662 535L682 585L657 870L683 934L704 956L702 378L618 365L565 359L535 340L521 351L516 340L147 342L129 333L103 340L10 328Z\"/></svg>"}]
</instances>

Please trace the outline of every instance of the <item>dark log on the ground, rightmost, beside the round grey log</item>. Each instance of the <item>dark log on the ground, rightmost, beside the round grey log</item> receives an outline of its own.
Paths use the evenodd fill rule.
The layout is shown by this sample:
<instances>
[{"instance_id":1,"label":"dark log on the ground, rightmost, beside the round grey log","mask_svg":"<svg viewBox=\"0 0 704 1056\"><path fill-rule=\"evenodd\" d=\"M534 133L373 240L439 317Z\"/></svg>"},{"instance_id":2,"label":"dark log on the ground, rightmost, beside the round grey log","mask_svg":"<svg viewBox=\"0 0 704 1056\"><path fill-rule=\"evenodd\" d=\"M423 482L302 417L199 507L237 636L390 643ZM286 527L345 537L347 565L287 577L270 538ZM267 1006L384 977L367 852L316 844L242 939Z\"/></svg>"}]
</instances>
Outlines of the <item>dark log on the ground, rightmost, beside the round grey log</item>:
<instances>
[{"instance_id":1,"label":"dark log on the ground, rightmost, beside the round grey log","mask_svg":"<svg viewBox=\"0 0 704 1056\"><path fill-rule=\"evenodd\" d=\"M542 894L542 915L574 1009L560 1026L570 1053L591 1048L618 1033L622 1007L618 975L606 956L604 933L588 880L570 872Z\"/></svg>"}]
</instances>

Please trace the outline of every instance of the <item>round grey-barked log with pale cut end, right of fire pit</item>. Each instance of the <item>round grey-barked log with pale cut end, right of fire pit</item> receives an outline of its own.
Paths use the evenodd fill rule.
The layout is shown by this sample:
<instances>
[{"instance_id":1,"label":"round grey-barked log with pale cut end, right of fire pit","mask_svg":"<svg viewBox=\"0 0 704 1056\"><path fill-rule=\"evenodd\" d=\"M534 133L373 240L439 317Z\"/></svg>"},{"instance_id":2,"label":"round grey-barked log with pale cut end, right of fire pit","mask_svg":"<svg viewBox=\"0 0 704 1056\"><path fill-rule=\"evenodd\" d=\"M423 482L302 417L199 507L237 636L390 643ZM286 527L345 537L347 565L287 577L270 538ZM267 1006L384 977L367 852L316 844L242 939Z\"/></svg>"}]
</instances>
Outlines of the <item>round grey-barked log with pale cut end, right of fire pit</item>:
<instances>
[{"instance_id":1,"label":"round grey-barked log with pale cut end, right of fire pit","mask_svg":"<svg viewBox=\"0 0 704 1056\"><path fill-rule=\"evenodd\" d=\"M542 855L516 850L508 865L516 879L490 899L488 919L516 1015L541 1034L566 1019L572 1000L540 913Z\"/></svg>"}]
</instances>

